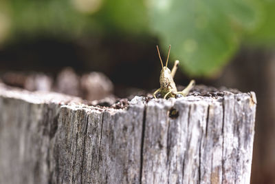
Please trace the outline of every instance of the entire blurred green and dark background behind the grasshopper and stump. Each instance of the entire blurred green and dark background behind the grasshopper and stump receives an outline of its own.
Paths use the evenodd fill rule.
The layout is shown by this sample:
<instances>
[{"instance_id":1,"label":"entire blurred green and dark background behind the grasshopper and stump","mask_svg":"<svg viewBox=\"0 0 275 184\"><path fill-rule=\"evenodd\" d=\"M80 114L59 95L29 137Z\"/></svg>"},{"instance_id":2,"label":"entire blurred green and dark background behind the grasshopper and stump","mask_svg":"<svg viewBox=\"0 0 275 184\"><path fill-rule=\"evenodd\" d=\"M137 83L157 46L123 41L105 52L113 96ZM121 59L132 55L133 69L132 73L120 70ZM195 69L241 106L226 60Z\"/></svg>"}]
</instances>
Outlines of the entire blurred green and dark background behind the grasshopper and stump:
<instances>
[{"instance_id":1,"label":"entire blurred green and dark background behind the grasshopper and stump","mask_svg":"<svg viewBox=\"0 0 275 184\"><path fill-rule=\"evenodd\" d=\"M125 97L159 88L155 45L165 60L170 44L177 84L256 92L252 183L275 183L274 20L274 0L1 0L0 80L41 72L58 81L69 66L104 73Z\"/></svg>"}]
</instances>

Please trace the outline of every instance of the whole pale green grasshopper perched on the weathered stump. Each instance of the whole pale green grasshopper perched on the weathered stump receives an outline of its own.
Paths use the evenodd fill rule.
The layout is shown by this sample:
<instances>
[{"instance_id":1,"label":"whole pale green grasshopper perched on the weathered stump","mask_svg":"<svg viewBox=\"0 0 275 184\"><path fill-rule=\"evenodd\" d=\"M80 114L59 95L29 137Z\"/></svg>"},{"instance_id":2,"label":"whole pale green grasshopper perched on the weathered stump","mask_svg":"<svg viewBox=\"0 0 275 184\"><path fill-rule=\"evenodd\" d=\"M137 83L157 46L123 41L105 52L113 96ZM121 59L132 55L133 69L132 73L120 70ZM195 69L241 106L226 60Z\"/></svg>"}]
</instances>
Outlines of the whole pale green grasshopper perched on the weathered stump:
<instances>
[{"instance_id":1,"label":"whole pale green grasshopper perched on the weathered stump","mask_svg":"<svg viewBox=\"0 0 275 184\"><path fill-rule=\"evenodd\" d=\"M191 80L190 83L188 84L188 86L184 90L182 90L180 92L177 91L177 88L176 88L173 78L177 71L177 67L179 65L179 60L175 61L172 72L170 72L169 68L167 67L169 54L170 54L170 48L171 48L171 45L169 45L166 65L164 66L162 63L162 57L160 57L160 54L159 54L159 47L157 46L157 52L159 54L159 59L160 59L160 62L162 63L162 71L160 72L160 76L159 76L160 88L154 92L154 94L153 94L154 97L155 97L155 94L157 94L157 92L160 92L160 94L162 95L162 97L164 99L166 99L166 97L168 97L168 98L175 97L176 94L181 94L182 96L187 96L187 94L190 92L190 90L195 86L195 81ZM156 99L156 97L155 97L155 99Z\"/></svg>"}]
</instances>

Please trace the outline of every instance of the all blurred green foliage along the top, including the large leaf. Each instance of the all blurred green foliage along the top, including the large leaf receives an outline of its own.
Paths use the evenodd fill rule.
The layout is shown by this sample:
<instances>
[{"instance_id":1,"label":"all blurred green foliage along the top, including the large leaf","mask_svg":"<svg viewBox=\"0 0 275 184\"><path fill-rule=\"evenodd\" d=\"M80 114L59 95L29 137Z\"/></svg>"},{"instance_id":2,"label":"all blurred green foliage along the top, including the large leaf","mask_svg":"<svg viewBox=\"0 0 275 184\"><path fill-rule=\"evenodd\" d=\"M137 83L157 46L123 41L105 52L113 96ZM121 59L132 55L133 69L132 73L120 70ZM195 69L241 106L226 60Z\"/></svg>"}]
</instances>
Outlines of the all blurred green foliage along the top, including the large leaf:
<instances>
[{"instance_id":1,"label":"all blurred green foliage along the top, including the large leaf","mask_svg":"<svg viewBox=\"0 0 275 184\"><path fill-rule=\"evenodd\" d=\"M91 1L100 5L92 12L76 7ZM151 34L163 50L171 45L186 73L213 76L241 44L274 45L274 8L274 0L2 0L0 34L8 28L14 39Z\"/></svg>"}]
</instances>

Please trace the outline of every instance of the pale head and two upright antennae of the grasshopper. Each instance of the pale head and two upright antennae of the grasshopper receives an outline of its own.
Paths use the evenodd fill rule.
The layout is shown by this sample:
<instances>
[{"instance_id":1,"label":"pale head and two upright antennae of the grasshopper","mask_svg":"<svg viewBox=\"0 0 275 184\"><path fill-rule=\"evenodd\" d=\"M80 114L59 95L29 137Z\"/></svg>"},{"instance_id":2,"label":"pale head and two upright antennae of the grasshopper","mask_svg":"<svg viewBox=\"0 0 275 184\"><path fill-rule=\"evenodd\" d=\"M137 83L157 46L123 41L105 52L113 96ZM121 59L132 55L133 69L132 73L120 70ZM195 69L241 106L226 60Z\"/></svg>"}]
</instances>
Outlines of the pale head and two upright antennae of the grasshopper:
<instances>
[{"instance_id":1,"label":"pale head and two upright antennae of the grasshopper","mask_svg":"<svg viewBox=\"0 0 275 184\"><path fill-rule=\"evenodd\" d=\"M167 67L169 54L170 54L170 48L171 48L171 45L169 45L168 57L166 60L166 65L164 66L162 63L162 57L160 57L160 54L159 54L159 47L157 46L157 52L159 54L159 59L160 59L160 62L162 63L162 71L160 72L160 76L159 76L160 88L167 88L170 81L171 80L173 81L173 78L171 76L171 71Z\"/></svg>"}]
</instances>

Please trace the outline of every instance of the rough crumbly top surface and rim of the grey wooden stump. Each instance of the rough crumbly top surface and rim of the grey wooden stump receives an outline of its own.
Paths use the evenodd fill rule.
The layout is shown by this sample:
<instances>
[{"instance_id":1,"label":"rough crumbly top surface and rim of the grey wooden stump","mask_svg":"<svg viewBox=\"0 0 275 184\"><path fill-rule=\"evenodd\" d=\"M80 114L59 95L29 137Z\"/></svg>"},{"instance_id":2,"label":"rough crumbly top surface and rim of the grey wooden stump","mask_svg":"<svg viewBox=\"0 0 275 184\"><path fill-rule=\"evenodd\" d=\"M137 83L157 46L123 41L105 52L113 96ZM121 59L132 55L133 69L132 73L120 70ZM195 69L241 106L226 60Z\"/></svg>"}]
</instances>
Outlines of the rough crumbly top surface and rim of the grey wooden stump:
<instances>
[{"instance_id":1,"label":"rough crumbly top surface and rim of the grey wooden stump","mask_svg":"<svg viewBox=\"0 0 275 184\"><path fill-rule=\"evenodd\" d=\"M58 105L68 105L71 108L85 108L85 109L97 109L97 110L118 110L125 109L130 105L135 105L137 103L175 103L175 101L182 102L202 102L203 103L213 103L223 101L226 95L236 94L236 96L248 96L251 98L251 103L256 104L256 96L254 92L243 93L239 90L229 89L229 88L212 88L205 85L196 85L195 88L188 94L188 96L181 96L179 98L170 98L170 99L154 99L151 94L147 96L135 96L135 98L128 99L118 99L116 103L110 104L104 100L100 101L86 101L76 96L69 96L66 94L56 93L56 92L30 92L28 90L23 90L21 88L13 88L3 83L0 83L0 96L5 96L11 99L22 99L30 103L55 103ZM93 105L91 105L93 104Z\"/></svg>"}]
</instances>

